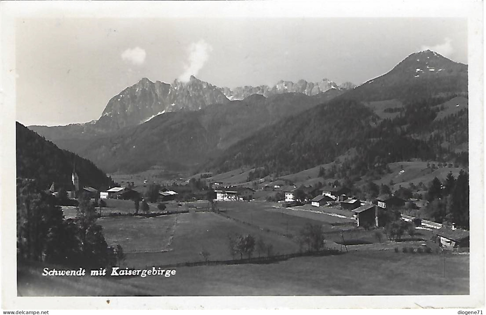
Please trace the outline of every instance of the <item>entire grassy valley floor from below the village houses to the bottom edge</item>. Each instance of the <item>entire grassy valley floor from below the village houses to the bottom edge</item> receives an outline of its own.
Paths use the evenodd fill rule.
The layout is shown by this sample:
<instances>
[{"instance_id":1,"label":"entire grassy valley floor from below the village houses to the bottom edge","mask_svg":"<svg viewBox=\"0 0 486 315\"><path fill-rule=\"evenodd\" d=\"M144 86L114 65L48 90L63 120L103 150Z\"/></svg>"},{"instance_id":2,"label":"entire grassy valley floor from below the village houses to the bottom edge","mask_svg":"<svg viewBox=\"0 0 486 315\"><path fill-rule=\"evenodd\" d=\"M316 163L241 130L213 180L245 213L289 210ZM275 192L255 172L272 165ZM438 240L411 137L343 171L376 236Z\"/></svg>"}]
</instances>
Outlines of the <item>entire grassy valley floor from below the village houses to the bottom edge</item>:
<instances>
[{"instance_id":1,"label":"entire grassy valley floor from below the village houses to the bottom edge","mask_svg":"<svg viewBox=\"0 0 486 315\"><path fill-rule=\"evenodd\" d=\"M111 202L111 201L110 201ZM106 208L121 212L133 202ZM175 205L174 205L175 206ZM208 260L231 260L228 235L253 235L272 245L271 255L303 250L296 237L307 224L319 224L326 246L343 253L307 256L267 264L176 267L171 277L46 277L42 264L19 266L19 296L260 296L260 295L467 295L469 253L444 253L430 241L433 231L417 230L415 238L388 241L382 229L353 229L345 210L331 208L275 208L265 202L218 203L220 214L203 202L181 206L190 212L156 218L99 219L109 245L126 252L122 267L150 269ZM318 209L323 213L315 212ZM305 211L312 210L313 212ZM338 211L339 210L339 211ZM336 216L339 215L339 216ZM344 218L343 218L344 217ZM432 253L404 253L427 243ZM347 244L343 246L341 244ZM355 245L354 245L355 244ZM435 246L435 247L434 247ZM398 252L395 252L395 249ZM253 257L267 253L255 251ZM444 268L445 263L445 268Z\"/></svg>"}]
</instances>

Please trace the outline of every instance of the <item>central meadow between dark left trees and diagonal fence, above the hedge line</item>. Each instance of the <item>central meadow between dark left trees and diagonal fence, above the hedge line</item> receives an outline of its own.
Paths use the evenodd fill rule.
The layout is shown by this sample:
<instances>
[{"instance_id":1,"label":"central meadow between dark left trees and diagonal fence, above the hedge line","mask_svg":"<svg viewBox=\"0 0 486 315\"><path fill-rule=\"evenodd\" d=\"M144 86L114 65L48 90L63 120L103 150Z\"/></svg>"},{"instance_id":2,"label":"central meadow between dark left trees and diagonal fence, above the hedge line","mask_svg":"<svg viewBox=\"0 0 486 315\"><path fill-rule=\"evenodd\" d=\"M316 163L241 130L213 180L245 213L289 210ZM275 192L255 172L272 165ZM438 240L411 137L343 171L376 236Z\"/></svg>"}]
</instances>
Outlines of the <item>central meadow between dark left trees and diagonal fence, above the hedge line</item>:
<instances>
[{"instance_id":1,"label":"central meadow between dark left trees and diagonal fence, above the hedge line","mask_svg":"<svg viewBox=\"0 0 486 315\"><path fill-rule=\"evenodd\" d=\"M298 251L298 245L289 238L260 231L212 212L190 212L167 217L177 218L169 251L129 253L124 265L144 267L201 261L204 259L199 253L203 250L210 253L210 260L232 259L227 236L235 233L262 237L266 244L273 245L273 254ZM255 251L253 256L258 256L258 252Z\"/></svg>"}]
</instances>

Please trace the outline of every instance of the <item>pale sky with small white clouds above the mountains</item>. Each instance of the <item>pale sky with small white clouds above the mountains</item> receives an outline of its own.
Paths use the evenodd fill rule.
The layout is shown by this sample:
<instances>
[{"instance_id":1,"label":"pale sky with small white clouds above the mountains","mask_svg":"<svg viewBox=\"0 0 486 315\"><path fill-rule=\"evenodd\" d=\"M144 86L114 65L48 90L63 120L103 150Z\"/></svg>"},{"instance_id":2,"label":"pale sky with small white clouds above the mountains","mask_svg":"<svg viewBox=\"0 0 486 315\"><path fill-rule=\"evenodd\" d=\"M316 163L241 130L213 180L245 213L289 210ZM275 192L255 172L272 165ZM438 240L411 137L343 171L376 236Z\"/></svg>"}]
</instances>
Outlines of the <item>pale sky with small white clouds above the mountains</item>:
<instances>
[{"instance_id":1,"label":"pale sky with small white clouds above the mountains","mask_svg":"<svg viewBox=\"0 0 486 315\"><path fill-rule=\"evenodd\" d=\"M26 17L15 31L16 115L26 126L98 119L143 77L359 85L420 50L468 63L467 20L451 17Z\"/></svg>"}]
</instances>

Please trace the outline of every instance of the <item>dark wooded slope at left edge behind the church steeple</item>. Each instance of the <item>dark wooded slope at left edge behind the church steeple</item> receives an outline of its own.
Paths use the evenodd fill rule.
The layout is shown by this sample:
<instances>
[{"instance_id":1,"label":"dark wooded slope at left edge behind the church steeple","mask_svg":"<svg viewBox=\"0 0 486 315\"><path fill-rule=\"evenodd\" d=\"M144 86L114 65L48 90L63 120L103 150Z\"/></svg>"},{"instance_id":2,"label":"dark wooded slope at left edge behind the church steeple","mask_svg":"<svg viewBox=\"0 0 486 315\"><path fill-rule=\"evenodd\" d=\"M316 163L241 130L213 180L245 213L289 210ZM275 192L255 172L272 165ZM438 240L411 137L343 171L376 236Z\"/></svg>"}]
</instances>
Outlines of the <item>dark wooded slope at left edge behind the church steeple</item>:
<instances>
[{"instance_id":1,"label":"dark wooded slope at left edge behind the church steeple","mask_svg":"<svg viewBox=\"0 0 486 315\"><path fill-rule=\"evenodd\" d=\"M52 182L56 189L72 189L71 174L75 163L82 186L103 189L114 184L93 162L59 149L18 122L16 132L17 177L35 179L41 189L49 189Z\"/></svg>"}]
</instances>

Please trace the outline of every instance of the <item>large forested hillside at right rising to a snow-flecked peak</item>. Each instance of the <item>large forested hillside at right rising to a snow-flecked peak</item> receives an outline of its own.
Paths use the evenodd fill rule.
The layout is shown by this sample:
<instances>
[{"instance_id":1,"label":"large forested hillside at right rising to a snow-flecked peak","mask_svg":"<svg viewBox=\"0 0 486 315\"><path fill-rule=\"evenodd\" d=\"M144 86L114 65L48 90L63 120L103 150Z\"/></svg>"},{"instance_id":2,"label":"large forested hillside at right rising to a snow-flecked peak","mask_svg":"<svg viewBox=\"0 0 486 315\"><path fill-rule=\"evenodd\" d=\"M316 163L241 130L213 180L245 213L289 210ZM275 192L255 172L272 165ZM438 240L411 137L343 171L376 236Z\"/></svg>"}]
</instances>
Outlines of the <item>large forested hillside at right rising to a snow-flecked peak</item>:
<instances>
[{"instance_id":1,"label":"large forested hillside at right rising to a snow-flecked peak","mask_svg":"<svg viewBox=\"0 0 486 315\"><path fill-rule=\"evenodd\" d=\"M285 175L335 161L340 177L359 177L380 175L387 163L410 158L467 167L467 91L466 65L431 51L412 54L328 104L236 143L204 171L262 167L262 175ZM377 103L380 112L370 105Z\"/></svg>"}]
</instances>

